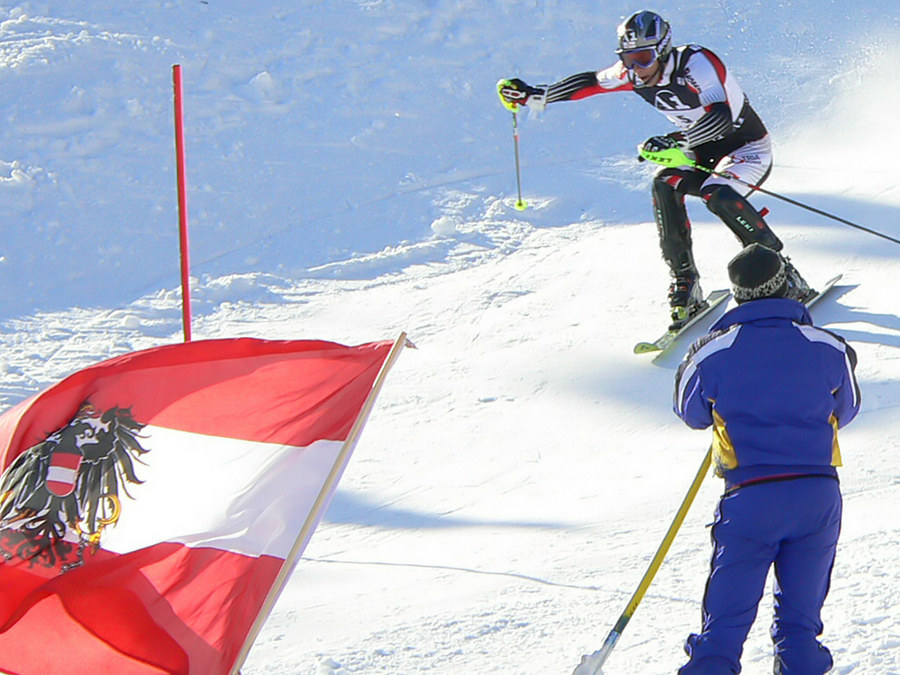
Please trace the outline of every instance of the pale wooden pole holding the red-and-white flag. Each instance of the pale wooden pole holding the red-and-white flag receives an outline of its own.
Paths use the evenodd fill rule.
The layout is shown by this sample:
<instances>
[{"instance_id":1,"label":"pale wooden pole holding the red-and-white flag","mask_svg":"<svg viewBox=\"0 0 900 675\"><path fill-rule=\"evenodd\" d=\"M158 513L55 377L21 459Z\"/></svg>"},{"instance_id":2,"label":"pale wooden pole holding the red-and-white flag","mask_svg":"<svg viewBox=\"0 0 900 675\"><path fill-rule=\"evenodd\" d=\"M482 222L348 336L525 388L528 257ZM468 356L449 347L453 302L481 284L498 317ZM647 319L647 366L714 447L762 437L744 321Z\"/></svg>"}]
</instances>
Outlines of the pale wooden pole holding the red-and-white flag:
<instances>
[{"instance_id":1,"label":"pale wooden pole holding the red-and-white flag","mask_svg":"<svg viewBox=\"0 0 900 675\"><path fill-rule=\"evenodd\" d=\"M322 485L322 489L316 497L316 501L306 518L306 522L303 523L303 527L300 529L300 534L297 535L297 539L294 541L294 545L291 547L287 558L285 558L284 564L278 571L278 576L275 577L275 581L272 583L272 587L269 589L269 593L263 601L259 614L256 615L253 625L250 626L250 632L247 633L247 639L244 640L244 644L241 646L241 650L238 652L234 664L231 666L229 675L239 675L241 666L244 665L244 661L247 659L250 648L256 641L266 619L269 618L269 614L275 606L275 601L278 600L278 596L281 595L281 591L284 590L284 587L287 585L288 577L290 577L291 572L293 572L294 567L300 558L300 554L303 553L303 549L306 548L306 544L312 537L313 530L315 530L319 518L328 507L331 495L337 487L338 481L340 481L341 476L344 473L344 469L350 462L350 456L356 448L363 427L369 419L372 408L375 406L375 399L378 397L381 388L384 386L384 380L387 377L388 372L397 361L400 352L403 351L403 348L408 344L411 345L412 343L407 340L405 332L400 333L400 336L394 341L394 345L391 347L391 351L388 353L387 358L382 364L381 370L372 385L372 389L369 391L369 395L366 397L366 401L363 403L363 407L356 417L356 421L353 423L350 433L347 435L347 440L345 440L344 444L341 446L337 460L335 460L334 466L331 467L331 472L325 479L325 483Z\"/></svg>"}]
</instances>

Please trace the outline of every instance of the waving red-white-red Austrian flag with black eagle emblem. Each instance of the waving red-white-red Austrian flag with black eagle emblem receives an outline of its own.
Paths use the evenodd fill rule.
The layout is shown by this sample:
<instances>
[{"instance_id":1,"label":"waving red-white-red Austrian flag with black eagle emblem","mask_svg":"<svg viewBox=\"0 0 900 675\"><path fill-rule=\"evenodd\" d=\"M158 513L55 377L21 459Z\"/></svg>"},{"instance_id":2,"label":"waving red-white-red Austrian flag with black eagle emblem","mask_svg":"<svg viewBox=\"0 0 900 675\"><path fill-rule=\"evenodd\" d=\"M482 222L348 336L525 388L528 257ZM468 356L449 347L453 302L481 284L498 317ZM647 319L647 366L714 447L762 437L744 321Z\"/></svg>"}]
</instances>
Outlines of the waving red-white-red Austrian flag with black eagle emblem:
<instances>
[{"instance_id":1,"label":"waving red-white-red Austrian flag with black eagle emblem","mask_svg":"<svg viewBox=\"0 0 900 675\"><path fill-rule=\"evenodd\" d=\"M0 417L0 672L236 673L406 344L126 354Z\"/></svg>"}]
</instances>

